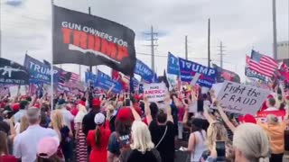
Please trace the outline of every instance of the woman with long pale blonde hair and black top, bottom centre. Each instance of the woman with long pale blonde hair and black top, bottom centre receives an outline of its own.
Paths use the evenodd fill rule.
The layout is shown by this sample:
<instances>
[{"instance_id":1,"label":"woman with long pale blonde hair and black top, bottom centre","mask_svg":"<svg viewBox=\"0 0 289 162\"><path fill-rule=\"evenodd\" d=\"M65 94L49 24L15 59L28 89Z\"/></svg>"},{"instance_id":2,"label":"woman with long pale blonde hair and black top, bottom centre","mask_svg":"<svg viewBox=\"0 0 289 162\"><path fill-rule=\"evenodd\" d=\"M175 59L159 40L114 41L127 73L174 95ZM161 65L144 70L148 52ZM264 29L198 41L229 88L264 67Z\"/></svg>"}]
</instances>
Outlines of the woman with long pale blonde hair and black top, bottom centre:
<instances>
[{"instance_id":1,"label":"woman with long pale blonde hair and black top, bottom centre","mask_svg":"<svg viewBox=\"0 0 289 162\"><path fill-rule=\"evenodd\" d=\"M124 162L161 162L159 152L154 148L150 131L143 121L134 121L132 126L133 143L131 150L123 154Z\"/></svg>"}]
</instances>

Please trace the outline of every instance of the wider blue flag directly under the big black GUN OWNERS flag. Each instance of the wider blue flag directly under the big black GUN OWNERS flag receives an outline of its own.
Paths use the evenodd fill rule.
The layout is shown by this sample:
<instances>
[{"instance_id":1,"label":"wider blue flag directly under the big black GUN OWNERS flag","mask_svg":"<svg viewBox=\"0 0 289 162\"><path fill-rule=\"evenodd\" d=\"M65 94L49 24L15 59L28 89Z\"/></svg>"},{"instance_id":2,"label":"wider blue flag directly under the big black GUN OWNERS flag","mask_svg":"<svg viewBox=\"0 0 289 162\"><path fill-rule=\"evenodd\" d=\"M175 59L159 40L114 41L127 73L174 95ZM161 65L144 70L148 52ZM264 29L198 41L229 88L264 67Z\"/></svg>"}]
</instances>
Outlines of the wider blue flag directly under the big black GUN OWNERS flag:
<instances>
[{"instance_id":1,"label":"wider blue flag directly under the big black GUN OWNERS flag","mask_svg":"<svg viewBox=\"0 0 289 162\"><path fill-rule=\"evenodd\" d=\"M96 86L108 90L111 88L111 86L114 85L112 89L112 93L118 94L122 90L122 85L117 82L116 80L113 80L110 76L107 76L105 73L98 70L98 81Z\"/></svg>"}]
</instances>

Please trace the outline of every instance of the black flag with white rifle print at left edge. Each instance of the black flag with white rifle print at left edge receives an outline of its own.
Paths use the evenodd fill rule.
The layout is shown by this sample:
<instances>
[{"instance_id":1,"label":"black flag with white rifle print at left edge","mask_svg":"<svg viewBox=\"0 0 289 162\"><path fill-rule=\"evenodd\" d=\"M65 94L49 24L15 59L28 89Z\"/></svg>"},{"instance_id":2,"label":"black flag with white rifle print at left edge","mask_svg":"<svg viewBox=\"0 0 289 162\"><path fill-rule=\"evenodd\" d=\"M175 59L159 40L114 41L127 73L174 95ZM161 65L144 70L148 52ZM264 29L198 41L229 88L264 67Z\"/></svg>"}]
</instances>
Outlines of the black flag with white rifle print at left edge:
<instances>
[{"instance_id":1,"label":"black flag with white rifle print at left edge","mask_svg":"<svg viewBox=\"0 0 289 162\"><path fill-rule=\"evenodd\" d=\"M12 60L0 58L0 83L7 85L28 85L29 72Z\"/></svg>"}]
</instances>

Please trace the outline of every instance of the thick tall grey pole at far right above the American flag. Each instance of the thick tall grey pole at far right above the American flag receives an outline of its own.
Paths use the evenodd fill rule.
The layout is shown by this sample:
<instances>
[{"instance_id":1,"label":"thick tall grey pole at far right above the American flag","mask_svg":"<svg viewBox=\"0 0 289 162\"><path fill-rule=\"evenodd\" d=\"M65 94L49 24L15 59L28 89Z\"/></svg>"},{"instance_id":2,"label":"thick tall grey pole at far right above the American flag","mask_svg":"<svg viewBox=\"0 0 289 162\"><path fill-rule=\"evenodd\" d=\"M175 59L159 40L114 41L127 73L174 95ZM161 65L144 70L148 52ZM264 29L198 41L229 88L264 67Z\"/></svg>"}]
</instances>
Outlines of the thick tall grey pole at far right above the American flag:
<instances>
[{"instance_id":1,"label":"thick tall grey pole at far right above the American flag","mask_svg":"<svg viewBox=\"0 0 289 162\"><path fill-rule=\"evenodd\" d=\"M272 0L273 15L273 58L277 58L276 0Z\"/></svg>"}]
</instances>

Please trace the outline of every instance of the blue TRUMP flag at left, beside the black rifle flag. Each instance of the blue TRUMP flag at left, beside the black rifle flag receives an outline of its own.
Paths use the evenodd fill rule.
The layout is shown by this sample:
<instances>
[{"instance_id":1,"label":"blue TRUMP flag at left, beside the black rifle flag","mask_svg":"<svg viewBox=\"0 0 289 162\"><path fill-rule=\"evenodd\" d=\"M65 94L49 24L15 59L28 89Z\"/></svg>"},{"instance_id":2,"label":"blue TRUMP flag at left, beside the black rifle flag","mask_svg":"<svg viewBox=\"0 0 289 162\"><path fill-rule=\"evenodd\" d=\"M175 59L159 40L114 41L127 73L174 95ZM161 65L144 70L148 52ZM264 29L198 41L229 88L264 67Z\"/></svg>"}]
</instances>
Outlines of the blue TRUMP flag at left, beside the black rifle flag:
<instances>
[{"instance_id":1,"label":"blue TRUMP flag at left, beside the black rifle flag","mask_svg":"<svg viewBox=\"0 0 289 162\"><path fill-rule=\"evenodd\" d=\"M30 82L31 83L51 83L51 67L42 63L41 61L32 58L28 55L25 56L24 67L30 73ZM58 82L60 68L53 67L53 79L54 82Z\"/></svg>"}]
</instances>

